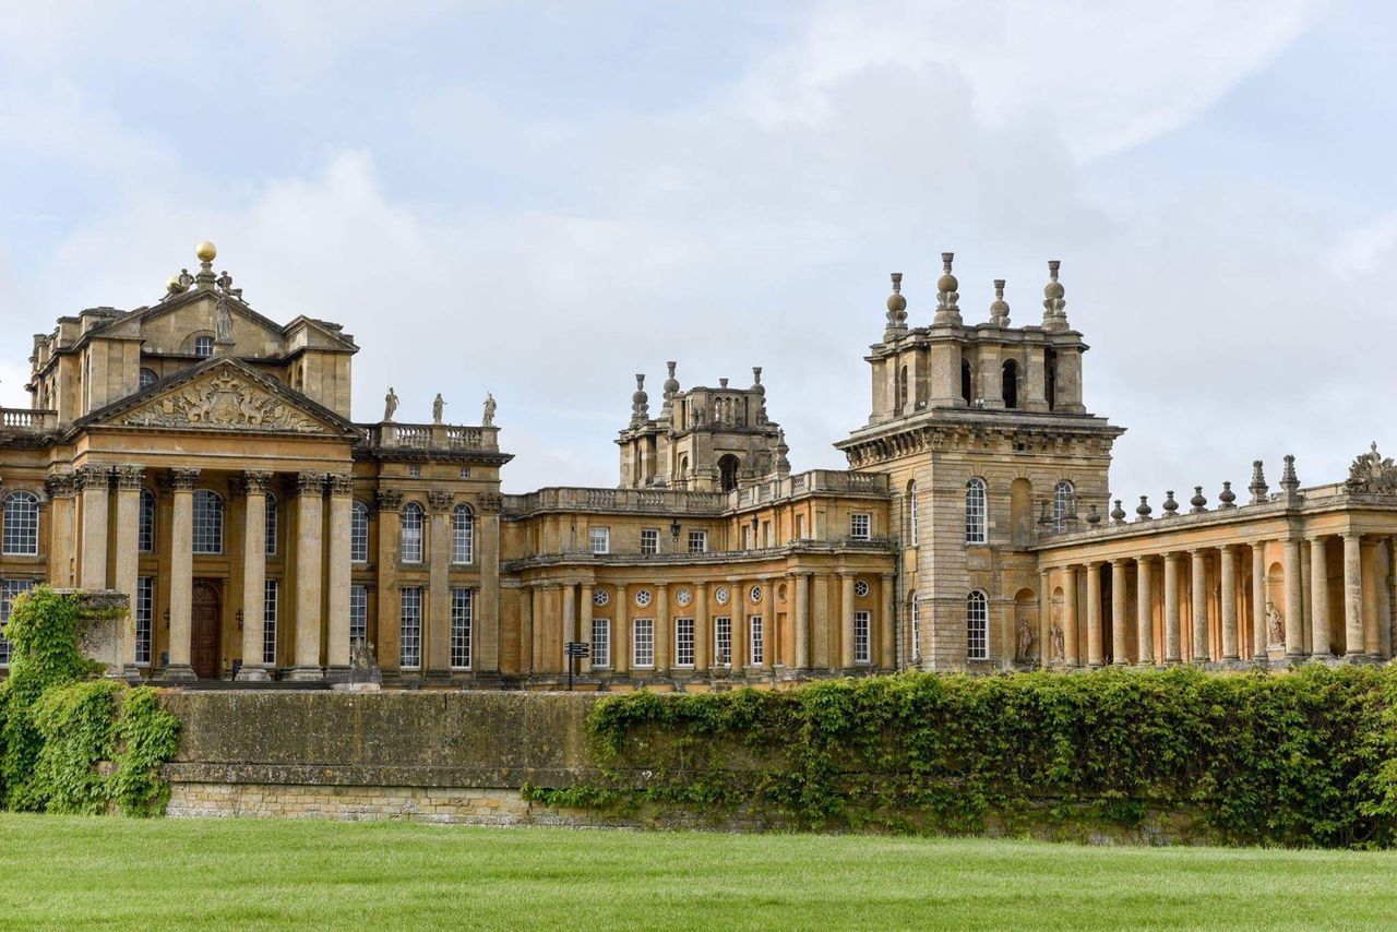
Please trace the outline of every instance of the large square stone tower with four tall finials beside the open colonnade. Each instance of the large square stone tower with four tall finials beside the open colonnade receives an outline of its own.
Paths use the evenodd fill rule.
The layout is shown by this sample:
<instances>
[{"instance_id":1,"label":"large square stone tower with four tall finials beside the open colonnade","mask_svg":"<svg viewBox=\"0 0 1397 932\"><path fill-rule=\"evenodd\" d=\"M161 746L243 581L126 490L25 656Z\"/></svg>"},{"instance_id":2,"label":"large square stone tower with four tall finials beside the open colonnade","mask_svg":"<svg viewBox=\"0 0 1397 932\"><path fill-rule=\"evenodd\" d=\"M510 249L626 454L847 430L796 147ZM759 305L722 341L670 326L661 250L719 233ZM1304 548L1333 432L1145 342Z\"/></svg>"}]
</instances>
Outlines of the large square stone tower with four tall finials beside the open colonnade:
<instances>
[{"instance_id":1,"label":"large square stone tower with four tall finials beside the open colonnade","mask_svg":"<svg viewBox=\"0 0 1397 932\"><path fill-rule=\"evenodd\" d=\"M964 321L951 260L942 254L926 327L908 327L893 275L883 340L866 356L869 421L835 446L851 468L891 481L901 664L1006 668L1044 657L1039 616L1053 611L1031 548L1045 531L1106 516L1111 447L1125 430L1083 404L1087 345L1067 324L1056 261L1042 323L1014 327L1002 279L989 320Z\"/></svg>"}]
</instances>

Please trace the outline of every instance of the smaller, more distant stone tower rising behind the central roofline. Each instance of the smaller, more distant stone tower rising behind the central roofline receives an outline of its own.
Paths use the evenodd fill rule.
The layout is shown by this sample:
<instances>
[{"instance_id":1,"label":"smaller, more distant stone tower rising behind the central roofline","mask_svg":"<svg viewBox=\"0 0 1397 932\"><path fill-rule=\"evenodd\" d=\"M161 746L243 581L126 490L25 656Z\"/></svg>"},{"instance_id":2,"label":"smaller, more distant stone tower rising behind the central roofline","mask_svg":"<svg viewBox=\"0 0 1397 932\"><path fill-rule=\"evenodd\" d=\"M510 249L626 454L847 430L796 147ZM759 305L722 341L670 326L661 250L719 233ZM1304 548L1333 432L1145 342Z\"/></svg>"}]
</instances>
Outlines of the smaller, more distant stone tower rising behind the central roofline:
<instances>
[{"instance_id":1,"label":"smaller, more distant stone tower rising behind the central roofline","mask_svg":"<svg viewBox=\"0 0 1397 932\"><path fill-rule=\"evenodd\" d=\"M620 488L728 492L791 471L781 425L767 418L760 366L753 366L747 388L733 388L719 379L717 388L680 391L676 363L668 365L658 418L650 416L645 377L636 376L630 423L616 439Z\"/></svg>"}]
</instances>

